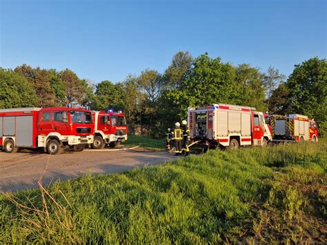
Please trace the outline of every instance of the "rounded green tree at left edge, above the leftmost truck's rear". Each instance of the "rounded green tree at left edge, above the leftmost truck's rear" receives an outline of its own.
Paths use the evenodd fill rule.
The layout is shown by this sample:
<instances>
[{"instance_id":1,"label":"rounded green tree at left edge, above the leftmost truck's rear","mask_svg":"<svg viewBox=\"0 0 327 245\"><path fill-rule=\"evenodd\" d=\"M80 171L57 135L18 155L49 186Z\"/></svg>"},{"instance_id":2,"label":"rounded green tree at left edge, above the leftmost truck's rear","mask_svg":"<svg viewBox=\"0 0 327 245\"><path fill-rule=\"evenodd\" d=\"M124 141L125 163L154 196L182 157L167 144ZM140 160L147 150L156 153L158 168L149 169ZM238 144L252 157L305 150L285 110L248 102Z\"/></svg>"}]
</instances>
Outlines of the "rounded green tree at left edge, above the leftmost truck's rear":
<instances>
[{"instance_id":1,"label":"rounded green tree at left edge, above the leftmost truck's rear","mask_svg":"<svg viewBox=\"0 0 327 245\"><path fill-rule=\"evenodd\" d=\"M13 70L0 68L0 108L36 106L32 84Z\"/></svg>"}]
</instances>

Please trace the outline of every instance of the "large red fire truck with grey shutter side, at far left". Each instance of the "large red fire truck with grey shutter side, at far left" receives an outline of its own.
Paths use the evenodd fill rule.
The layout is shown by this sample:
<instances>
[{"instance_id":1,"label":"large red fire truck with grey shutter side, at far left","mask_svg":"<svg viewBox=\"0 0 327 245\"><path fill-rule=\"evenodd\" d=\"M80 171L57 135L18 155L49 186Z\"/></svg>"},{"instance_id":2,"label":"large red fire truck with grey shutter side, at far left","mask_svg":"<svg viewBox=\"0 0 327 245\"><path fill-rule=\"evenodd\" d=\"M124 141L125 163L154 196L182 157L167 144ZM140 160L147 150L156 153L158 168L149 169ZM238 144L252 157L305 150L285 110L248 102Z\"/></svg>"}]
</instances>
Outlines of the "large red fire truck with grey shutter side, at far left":
<instances>
[{"instance_id":1,"label":"large red fire truck with grey shutter side, at far left","mask_svg":"<svg viewBox=\"0 0 327 245\"><path fill-rule=\"evenodd\" d=\"M81 108L0 109L0 146L6 153L44 148L59 154L66 146L81 151L93 143L92 121L91 112Z\"/></svg>"}]
</instances>

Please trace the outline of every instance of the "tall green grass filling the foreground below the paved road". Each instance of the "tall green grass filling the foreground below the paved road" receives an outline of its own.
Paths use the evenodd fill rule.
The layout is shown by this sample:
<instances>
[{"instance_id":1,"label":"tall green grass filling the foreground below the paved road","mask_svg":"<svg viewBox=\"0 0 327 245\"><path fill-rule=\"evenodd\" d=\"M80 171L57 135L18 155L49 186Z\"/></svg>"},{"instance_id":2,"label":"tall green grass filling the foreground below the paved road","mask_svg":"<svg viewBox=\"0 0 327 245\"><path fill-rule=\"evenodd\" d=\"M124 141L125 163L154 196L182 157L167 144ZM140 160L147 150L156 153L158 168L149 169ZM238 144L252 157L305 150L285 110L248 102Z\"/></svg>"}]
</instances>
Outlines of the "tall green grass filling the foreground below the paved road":
<instances>
[{"instance_id":1,"label":"tall green grass filling the foreground below the paved road","mask_svg":"<svg viewBox=\"0 0 327 245\"><path fill-rule=\"evenodd\" d=\"M212 150L0 195L0 241L326 243L326 150Z\"/></svg>"}]
</instances>

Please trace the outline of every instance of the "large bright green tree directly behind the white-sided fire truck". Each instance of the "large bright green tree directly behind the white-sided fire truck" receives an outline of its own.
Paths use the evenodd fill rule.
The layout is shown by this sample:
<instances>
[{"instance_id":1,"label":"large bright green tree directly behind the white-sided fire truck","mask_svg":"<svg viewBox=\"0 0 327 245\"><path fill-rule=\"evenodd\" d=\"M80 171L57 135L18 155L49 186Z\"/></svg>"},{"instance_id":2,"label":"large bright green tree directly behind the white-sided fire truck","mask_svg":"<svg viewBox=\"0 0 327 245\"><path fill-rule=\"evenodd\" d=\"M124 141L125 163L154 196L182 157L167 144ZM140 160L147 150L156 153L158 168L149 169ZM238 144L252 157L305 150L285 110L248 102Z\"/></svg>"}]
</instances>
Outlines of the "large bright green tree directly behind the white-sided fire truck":
<instances>
[{"instance_id":1,"label":"large bright green tree directly behind the white-sided fire truck","mask_svg":"<svg viewBox=\"0 0 327 245\"><path fill-rule=\"evenodd\" d=\"M235 88L235 72L230 63L212 59L208 53L192 62L192 69L178 89L167 93L168 99L179 106L186 117L188 106L205 106L217 102L230 103Z\"/></svg>"}]
</instances>

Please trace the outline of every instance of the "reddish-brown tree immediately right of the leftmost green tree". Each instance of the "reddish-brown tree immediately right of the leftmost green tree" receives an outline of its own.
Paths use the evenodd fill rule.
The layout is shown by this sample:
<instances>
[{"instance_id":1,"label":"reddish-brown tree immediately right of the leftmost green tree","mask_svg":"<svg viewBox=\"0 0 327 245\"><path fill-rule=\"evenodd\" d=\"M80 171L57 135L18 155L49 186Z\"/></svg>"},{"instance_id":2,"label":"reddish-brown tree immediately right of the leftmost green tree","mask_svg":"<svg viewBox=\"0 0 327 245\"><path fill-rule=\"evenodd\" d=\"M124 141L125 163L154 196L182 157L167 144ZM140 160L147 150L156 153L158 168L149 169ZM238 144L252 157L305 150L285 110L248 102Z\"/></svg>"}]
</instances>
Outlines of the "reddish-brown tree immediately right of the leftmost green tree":
<instances>
[{"instance_id":1,"label":"reddish-brown tree immediately right of the leftmost green tree","mask_svg":"<svg viewBox=\"0 0 327 245\"><path fill-rule=\"evenodd\" d=\"M36 106L47 107L55 105L55 95L51 88L48 70L39 67L32 68L23 64L22 66L17 66L14 71L26 77L32 84L39 98L39 103Z\"/></svg>"}]
</instances>

